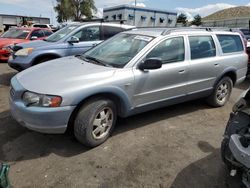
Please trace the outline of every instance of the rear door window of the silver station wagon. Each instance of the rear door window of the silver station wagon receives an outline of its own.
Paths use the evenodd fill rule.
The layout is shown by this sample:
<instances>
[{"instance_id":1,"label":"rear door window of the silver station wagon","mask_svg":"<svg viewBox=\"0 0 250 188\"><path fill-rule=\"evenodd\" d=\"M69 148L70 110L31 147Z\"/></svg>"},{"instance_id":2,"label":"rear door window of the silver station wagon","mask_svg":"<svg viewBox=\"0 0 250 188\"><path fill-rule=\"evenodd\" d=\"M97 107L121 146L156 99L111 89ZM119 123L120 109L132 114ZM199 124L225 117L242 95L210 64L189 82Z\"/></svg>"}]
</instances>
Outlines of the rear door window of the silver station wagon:
<instances>
[{"instance_id":1,"label":"rear door window of the silver station wagon","mask_svg":"<svg viewBox=\"0 0 250 188\"><path fill-rule=\"evenodd\" d=\"M216 49L211 36L190 36L191 59L216 56Z\"/></svg>"}]
</instances>

